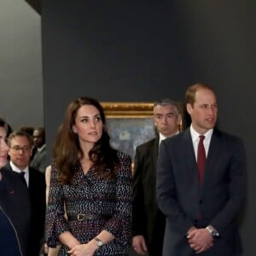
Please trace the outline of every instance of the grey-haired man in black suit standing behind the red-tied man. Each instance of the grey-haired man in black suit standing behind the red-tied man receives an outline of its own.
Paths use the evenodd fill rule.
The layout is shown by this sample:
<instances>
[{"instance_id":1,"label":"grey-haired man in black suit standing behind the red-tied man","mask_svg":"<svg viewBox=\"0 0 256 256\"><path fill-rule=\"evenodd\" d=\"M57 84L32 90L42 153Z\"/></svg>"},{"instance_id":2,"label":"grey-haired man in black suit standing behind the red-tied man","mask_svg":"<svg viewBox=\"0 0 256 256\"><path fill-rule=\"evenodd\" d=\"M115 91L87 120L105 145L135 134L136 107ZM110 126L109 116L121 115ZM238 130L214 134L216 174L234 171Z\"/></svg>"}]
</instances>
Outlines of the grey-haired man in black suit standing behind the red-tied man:
<instances>
[{"instance_id":1,"label":"grey-haired man in black suit standing behind the red-tied man","mask_svg":"<svg viewBox=\"0 0 256 256\"><path fill-rule=\"evenodd\" d=\"M139 254L161 255L166 218L157 207L156 160L160 141L178 133L181 114L169 99L154 103L154 125L158 136L137 147L133 183L132 246Z\"/></svg>"}]
</instances>

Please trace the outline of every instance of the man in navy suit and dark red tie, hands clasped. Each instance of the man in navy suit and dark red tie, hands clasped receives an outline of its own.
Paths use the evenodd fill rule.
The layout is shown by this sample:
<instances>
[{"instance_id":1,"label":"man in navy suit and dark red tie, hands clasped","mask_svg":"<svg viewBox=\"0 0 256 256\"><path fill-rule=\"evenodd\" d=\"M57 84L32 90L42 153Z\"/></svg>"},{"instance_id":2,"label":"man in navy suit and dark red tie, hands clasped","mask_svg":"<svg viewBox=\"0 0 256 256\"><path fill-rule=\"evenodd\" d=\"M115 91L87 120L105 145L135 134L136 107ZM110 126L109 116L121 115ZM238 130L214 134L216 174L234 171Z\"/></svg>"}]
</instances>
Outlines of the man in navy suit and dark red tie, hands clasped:
<instances>
[{"instance_id":1,"label":"man in navy suit and dark red tie, hands clasped","mask_svg":"<svg viewBox=\"0 0 256 256\"><path fill-rule=\"evenodd\" d=\"M214 128L217 107L210 86L190 86L190 127L160 145L156 189L166 215L163 256L241 254L236 217L246 195L245 149L240 138ZM200 144L207 158L202 173Z\"/></svg>"}]
</instances>

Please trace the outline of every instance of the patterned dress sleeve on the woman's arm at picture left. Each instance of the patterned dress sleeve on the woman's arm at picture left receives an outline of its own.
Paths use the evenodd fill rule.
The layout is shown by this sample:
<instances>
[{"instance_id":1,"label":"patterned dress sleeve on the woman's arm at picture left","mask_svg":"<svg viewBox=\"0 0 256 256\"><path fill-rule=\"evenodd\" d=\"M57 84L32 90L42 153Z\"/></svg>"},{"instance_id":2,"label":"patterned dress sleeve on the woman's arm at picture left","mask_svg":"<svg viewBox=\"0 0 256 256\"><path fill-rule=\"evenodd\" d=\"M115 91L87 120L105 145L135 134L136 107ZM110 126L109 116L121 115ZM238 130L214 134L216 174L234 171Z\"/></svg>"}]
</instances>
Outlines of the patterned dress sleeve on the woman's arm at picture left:
<instances>
[{"instance_id":1,"label":"patterned dress sleeve on the woman's arm at picture left","mask_svg":"<svg viewBox=\"0 0 256 256\"><path fill-rule=\"evenodd\" d=\"M61 183L57 181L57 173L52 161L45 224L46 242L49 247L59 245L58 237L68 231L67 219L64 218L64 194Z\"/></svg>"}]
</instances>

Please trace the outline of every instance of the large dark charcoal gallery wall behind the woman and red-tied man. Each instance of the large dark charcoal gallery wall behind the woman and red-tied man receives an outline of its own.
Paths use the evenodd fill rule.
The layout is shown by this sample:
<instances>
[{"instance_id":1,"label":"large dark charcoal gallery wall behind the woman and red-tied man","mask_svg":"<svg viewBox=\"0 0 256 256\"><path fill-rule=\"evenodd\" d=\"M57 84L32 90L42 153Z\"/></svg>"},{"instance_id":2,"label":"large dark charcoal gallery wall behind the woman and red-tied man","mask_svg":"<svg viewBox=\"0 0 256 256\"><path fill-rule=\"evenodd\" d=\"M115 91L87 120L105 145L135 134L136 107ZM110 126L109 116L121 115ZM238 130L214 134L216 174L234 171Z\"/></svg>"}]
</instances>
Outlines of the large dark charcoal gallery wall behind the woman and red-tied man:
<instances>
[{"instance_id":1,"label":"large dark charcoal gallery wall behind the woman and red-tied man","mask_svg":"<svg viewBox=\"0 0 256 256\"><path fill-rule=\"evenodd\" d=\"M67 103L183 101L186 87L212 84L218 127L247 148L241 214L245 256L255 230L255 9L253 1L42 1L44 114L50 148ZM50 150L48 153L50 158Z\"/></svg>"}]
</instances>

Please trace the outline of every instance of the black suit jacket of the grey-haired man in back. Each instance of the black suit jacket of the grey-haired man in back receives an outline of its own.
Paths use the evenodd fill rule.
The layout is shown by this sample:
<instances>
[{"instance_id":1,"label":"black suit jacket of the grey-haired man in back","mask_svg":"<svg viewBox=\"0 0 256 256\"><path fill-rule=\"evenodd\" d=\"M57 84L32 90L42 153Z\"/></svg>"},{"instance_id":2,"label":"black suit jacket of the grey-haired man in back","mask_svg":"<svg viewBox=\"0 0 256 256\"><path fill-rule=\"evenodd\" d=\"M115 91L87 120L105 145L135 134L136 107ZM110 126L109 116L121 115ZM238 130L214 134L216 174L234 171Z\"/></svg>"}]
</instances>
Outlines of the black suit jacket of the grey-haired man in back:
<instances>
[{"instance_id":1,"label":"black suit jacket of the grey-haired man in back","mask_svg":"<svg viewBox=\"0 0 256 256\"><path fill-rule=\"evenodd\" d=\"M133 236L143 235L150 255L160 253L166 217L156 200L156 162L159 137L136 148L133 176Z\"/></svg>"}]
</instances>

